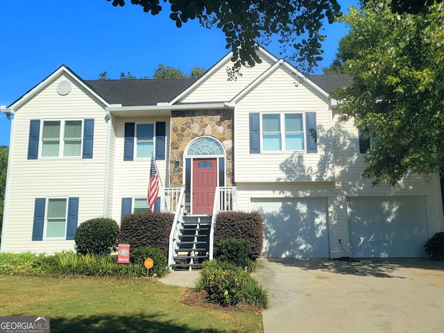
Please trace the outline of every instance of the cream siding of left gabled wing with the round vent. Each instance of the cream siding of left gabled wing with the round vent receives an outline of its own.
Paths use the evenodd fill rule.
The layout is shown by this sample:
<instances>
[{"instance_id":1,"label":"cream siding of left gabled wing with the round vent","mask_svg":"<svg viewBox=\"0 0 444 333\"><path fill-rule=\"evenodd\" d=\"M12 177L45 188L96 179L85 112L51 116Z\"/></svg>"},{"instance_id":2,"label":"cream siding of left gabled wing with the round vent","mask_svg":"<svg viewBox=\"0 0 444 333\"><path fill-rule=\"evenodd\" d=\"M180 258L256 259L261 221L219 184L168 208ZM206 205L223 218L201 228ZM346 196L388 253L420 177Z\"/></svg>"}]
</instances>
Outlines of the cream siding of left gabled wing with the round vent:
<instances>
[{"instance_id":1,"label":"cream siding of left gabled wing with the round vent","mask_svg":"<svg viewBox=\"0 0 444 333\"><path fill-rule=\"evenodd\" d=\"M60 80L71 82L66 96L57 93ZM85 119L94 118L93 158L42 158L27 160L28 136L31 119ZM2 242L6 252L52 253L74 248L74 241L31 241L35 198L78 197L78 223L103 215L105 183L106 131L103 105L76 81L61 76L49 83L46 89L21 105L15 114L12 137L10 193L7 228ZM42 126L42 120L40 126ZM41 151L42 143L39 142Z\"/></svg>"}]
</instances>

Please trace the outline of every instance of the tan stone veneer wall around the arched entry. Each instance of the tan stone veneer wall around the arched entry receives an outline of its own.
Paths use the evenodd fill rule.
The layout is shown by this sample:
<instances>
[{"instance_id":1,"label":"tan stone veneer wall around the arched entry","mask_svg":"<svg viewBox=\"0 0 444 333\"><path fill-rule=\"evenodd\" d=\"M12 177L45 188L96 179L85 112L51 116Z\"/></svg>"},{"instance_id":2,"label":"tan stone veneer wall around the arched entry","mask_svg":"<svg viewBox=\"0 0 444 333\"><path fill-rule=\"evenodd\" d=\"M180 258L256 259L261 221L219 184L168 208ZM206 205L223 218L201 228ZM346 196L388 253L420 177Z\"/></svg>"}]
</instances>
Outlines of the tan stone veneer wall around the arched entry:
<instances>
[{"instance_id":1,"label":"tan stone veneer wall around the arched entry","mask_svg":"<svg viewBox=\"0 0 444 333\"><path fill-rule=\"evenodd\" d=\"M226 151L225 183L233 184L232 173L232 114L233 110L186 110L171 112L170 187L183 185L183 154L187 144L203 135L218 139ZM174 164L179 168L174 170Z\"/></svg>"}]
</instances>

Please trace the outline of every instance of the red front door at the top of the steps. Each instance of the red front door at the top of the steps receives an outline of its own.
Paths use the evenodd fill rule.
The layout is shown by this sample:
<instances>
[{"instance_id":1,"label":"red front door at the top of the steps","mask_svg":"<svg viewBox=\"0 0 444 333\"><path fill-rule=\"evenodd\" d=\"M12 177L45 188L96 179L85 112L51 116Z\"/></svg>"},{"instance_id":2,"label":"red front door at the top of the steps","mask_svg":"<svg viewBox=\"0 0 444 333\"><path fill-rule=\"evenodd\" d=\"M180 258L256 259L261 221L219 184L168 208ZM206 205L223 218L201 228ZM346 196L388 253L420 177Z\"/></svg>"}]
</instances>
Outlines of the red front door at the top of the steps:
<instances>
[{"instance_id":1,"label":"red front door at the top of the steps","mask_svg":"<svg viewBox=\"0 0 444 333\"><path fill-rule=\"evenodd\" d=\"M193 160L193 212L212 214L217 183L215 158Z\"/></svg>"}]
</instances>

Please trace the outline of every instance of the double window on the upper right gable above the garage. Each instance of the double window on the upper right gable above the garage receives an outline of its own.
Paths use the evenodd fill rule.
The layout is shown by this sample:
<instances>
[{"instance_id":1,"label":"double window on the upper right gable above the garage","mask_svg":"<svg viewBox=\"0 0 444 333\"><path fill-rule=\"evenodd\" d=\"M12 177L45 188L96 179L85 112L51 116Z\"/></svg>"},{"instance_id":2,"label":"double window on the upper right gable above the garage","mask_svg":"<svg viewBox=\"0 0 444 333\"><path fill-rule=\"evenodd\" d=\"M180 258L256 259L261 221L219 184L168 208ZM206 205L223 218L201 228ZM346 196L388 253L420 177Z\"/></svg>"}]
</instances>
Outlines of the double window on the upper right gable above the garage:
<instances>
[{"instance_id":1,"label":"double window on the upper right gable above the garage","mask_svg":"<svg viewBox=\"0 0 444 333\"><path fill-rule=\"evenodd\" d=\"M262 150L304 151L303 119L302 112L262 114Z\"/></svg>"}]
</instances>

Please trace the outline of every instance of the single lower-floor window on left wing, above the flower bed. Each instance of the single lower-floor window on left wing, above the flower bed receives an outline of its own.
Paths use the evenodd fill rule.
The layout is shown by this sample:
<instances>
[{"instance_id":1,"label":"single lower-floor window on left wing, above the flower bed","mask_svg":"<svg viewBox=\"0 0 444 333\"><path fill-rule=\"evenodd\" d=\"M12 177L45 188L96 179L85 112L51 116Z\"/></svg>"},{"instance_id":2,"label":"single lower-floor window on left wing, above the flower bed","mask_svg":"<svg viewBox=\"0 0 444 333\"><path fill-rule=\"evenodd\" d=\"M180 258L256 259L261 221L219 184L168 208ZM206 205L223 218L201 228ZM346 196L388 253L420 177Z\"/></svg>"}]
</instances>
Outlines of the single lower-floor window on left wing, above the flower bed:
<instances>
[{"instance_id":1,"label":"single lower-floor window on left wing, above the flower bed","mask_svg":"<svg viewBox=\"0 0 444 333\"><path fill-rule=\"evenodd\" d=\"M44 223L45 239L65 239L67 232L67 198L47 198Z\"/></svg>"}]
</instances>

